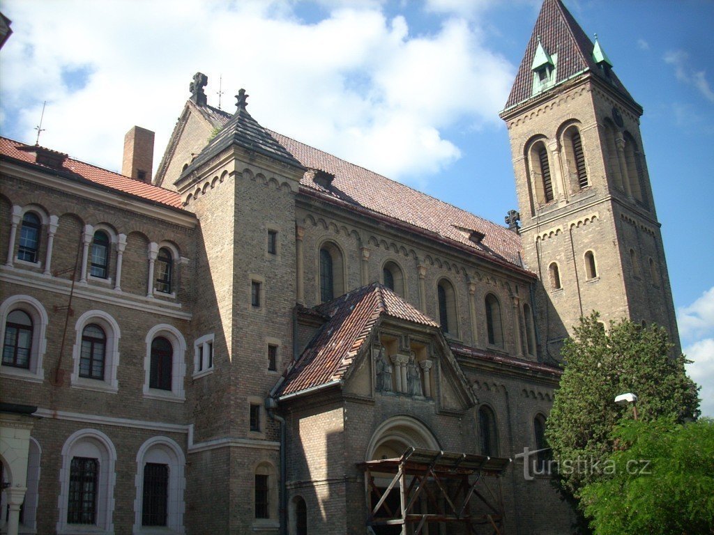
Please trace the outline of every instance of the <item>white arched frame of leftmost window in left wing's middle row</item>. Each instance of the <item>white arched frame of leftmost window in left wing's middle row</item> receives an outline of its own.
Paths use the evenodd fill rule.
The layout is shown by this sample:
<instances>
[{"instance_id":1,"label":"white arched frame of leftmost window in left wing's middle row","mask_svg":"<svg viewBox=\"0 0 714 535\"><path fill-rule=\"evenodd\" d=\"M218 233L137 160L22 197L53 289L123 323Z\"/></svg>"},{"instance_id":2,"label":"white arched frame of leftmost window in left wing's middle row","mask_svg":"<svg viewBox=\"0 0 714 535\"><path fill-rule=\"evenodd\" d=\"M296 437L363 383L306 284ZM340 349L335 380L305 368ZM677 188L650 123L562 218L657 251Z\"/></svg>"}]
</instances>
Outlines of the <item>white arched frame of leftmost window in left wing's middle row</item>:
<instances>
[{"instance_id":1,"label":"white arched frame of leftmost window in left wing's middle row","mask_svg":"<svg viewBox=\"0 0 714 535\"><path fill-rule=\"evenodd\" d=\"M0 376L14 377L30 382L42 382L44 380L44 369L42 362L47 349L47 325L49 317L42 303L30 295L12 295L0 305L0 343L5 343L5 327L7 317L13 310L26 312L32 320L32 348L30 352L30 367L16 368L14 366L3 366L0 360Z\"/></svg>"}]
</instances>

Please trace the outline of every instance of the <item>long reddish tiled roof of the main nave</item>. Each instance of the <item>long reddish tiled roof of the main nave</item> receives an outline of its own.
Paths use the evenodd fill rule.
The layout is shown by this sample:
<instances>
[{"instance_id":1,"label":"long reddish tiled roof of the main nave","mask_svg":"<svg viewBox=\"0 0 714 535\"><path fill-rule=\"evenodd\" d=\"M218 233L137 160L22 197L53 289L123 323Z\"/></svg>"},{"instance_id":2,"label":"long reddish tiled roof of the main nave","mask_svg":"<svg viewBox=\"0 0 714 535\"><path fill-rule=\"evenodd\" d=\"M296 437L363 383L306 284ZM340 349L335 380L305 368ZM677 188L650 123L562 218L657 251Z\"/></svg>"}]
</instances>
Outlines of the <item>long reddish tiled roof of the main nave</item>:
<instances>
[{"instance_id":1,"label":"long reddish tiled roof of the main nave","mask_svg":"<svg viewBox=\"0 0 714 535\"><path fill-rule=\"evenodd\" d=\"M201 111L216 126L231 118L225 111L211 106ZM301 180L304 188L427 230L474 252L522 266L521 238L511 230L280 133L271 130L268 133L304 167L326 171L335 177L325 188L313 180L313 173L305 173ZM469 239L473 230L484 235L478 243Z\"/></svg>"}]
</instances>

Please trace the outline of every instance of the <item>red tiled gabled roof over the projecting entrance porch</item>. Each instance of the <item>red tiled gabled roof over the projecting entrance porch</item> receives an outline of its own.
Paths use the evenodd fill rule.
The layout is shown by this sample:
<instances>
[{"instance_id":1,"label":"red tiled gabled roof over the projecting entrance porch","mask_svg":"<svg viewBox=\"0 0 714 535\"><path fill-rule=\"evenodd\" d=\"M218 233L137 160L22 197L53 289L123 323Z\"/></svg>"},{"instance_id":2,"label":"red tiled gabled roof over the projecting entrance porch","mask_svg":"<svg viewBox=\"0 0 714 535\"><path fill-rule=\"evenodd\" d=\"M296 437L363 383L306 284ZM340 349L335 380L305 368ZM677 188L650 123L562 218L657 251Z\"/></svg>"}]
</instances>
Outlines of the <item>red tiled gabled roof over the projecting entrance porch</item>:
<instances>
[{"instance_id":1,"label":"red tiled gabled roof over the projecting entrance porch","mask_svg":"<svg viewBox=\"0 0 714 535\"><path fill-rule=\"evenodd\" d=\"M278 389L279 396L342 379L382 315L438 327L434 320L378 282L313 310L329 319L288 371L285 382Z\"/></svg>"}]
</instances>

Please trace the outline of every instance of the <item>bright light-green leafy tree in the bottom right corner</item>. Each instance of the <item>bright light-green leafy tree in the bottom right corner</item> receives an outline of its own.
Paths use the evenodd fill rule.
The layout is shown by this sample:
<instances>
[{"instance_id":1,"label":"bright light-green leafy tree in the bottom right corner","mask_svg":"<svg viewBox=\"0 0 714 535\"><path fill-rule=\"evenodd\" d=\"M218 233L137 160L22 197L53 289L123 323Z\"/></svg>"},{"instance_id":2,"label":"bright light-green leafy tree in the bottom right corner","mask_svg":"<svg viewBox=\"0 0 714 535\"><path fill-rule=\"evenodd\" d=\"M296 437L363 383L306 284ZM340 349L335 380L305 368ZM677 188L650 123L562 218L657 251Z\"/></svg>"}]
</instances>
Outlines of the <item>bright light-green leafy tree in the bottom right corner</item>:
<instances>
[{"instance_id":1,"label":"bright light-green leafy tree in the bottom right corner","mask_svg":"<svg viewBox=\"0 0 714 535\"><path fill-rule=\"evenodd\" d=\"M714 534L714 423L625 422L613 433L613 475L587 484L595 535Z\"/></svg>"}]
</instances>

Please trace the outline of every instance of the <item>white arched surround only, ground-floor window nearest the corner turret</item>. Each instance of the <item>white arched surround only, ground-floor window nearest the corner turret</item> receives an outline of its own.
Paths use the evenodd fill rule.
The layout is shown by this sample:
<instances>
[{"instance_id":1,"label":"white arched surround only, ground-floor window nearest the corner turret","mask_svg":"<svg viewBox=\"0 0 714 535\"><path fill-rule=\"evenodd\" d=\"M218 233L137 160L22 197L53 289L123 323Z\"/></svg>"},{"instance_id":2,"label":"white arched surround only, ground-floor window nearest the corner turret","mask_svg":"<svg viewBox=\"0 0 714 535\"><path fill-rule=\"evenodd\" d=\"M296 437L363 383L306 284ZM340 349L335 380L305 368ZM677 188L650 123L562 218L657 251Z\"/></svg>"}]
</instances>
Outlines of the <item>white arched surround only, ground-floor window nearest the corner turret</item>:
<instances>
[{"instance_id":1,"label":"white arched surround only, ground-floor window nearest the corner turret","mask_svg":"<svg viewBox=\"0 0 714 535\"><path fill-rule=\"evenodd\" d=\"M166 527L142 526L141 514L144 502L144 466L148 462L169 466L169 496L166 506ZM186 456L178 444L169 437L152 437L141 444L136 454L136 498L134 499L134 534L174 534L183 535L183 514L186 503L183 491L186 490Z\"/></svg>"}]
</instances>

